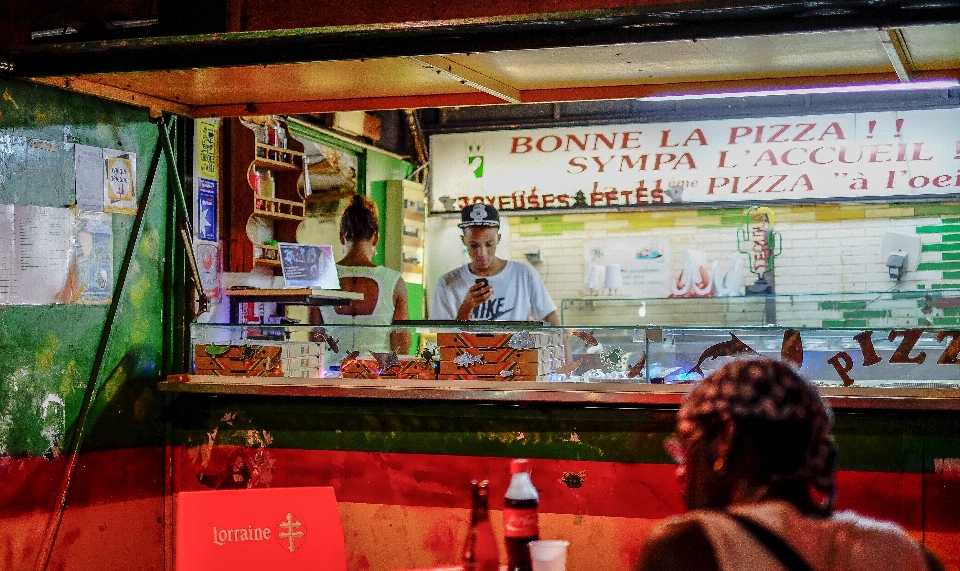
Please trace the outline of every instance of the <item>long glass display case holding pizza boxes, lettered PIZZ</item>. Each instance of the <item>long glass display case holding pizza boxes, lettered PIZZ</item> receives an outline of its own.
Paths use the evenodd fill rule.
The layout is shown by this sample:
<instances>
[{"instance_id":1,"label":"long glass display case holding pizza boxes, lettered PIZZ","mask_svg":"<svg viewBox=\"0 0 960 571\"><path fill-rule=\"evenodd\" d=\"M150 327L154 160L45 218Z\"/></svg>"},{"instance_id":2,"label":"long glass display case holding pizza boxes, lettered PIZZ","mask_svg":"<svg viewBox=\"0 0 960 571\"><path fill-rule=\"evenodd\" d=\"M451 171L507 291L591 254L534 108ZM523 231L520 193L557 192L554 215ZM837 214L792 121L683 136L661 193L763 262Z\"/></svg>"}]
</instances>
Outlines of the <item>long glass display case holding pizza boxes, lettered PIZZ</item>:
<instances>
[{"instance_id":1,"label":"long glass display case holding pizza boxes, lettered PIZZ","mask_svg":"<svg viewBox=\"0 0 960 571\"><path fill-rule=\"evenodd\" d=\"M731 359L758 354L793 363L822 387L960 388L960 328L399 327L415 340L407 354L364 346L377 336L389 338L398 326L194 324L193 371L181 380L430 381L448 388L469 381L494 389L596 385L623 391L690 385Z\"/></svg>"}]
</instances>

